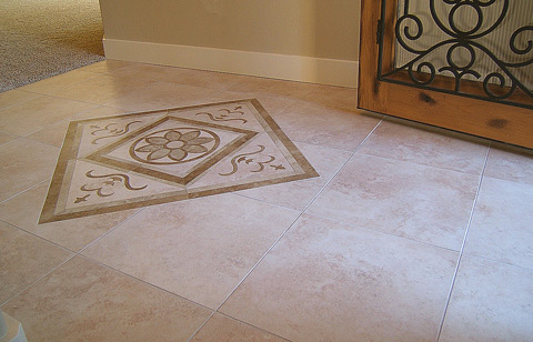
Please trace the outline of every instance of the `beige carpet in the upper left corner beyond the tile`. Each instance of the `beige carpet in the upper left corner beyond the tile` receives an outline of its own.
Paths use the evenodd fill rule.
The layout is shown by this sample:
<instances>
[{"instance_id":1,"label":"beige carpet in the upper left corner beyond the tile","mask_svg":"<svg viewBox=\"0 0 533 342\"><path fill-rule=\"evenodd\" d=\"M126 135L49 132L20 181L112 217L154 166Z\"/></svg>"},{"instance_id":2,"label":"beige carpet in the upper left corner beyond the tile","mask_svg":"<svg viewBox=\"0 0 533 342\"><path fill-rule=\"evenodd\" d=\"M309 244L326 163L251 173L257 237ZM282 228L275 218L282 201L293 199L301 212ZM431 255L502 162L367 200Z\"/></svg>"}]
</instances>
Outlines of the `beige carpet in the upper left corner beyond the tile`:
<instances>
[{"instance_id":1,"label":"beige carpet in the upper left corner beyond the tile","mask_svg":"<svg viewBox=\"0 0 533 342\"><path fill-rule=\"evenodd\" d=\"M103 60L98 0L1 0L0 92Z\"/></svg>"}]
</instances>

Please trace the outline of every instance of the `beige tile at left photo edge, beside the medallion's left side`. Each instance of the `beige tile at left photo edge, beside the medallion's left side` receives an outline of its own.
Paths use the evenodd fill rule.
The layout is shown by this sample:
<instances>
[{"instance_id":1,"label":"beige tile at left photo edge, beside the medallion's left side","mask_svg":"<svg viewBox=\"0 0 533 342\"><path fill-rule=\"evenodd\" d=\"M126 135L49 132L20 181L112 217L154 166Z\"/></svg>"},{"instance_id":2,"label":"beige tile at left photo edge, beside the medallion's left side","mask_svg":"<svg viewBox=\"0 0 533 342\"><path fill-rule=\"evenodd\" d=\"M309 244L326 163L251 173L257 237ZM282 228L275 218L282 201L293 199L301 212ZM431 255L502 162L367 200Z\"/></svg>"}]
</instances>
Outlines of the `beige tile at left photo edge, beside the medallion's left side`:
<instances>
[{"instance_id":1,"label":"beige tile at left photo edge, beside the medallion's left side","mask_svg":"<svg viewBox=\"0 0 533 342\"><path fill-rule=\"evenodd\" d=\"M0 201L51 178L58 153L24 138L0 145Z\"/></svg>"}]
</instances>

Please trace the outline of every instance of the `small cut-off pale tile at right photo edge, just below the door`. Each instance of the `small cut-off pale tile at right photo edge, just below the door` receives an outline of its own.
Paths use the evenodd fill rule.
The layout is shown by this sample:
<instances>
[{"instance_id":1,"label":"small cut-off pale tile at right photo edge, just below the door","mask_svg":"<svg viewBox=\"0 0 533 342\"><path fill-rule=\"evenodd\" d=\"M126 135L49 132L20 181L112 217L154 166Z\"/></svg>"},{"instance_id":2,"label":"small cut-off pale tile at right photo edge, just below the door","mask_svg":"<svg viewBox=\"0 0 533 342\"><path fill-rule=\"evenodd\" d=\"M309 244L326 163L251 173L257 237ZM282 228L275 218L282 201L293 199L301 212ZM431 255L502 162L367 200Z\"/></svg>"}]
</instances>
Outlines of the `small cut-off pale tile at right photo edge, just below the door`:
<instances>
[{"instance_id":1,"label":"small cut-off pale tile at right photo edge, just below the door","mask_svg":"<svg viewBox=\"0 0 533 342\"><path fill-rule=\"evenodd\" d=\"M493 144L485 175L533 185L533 150Z\"/></svg>"}]
</instances>

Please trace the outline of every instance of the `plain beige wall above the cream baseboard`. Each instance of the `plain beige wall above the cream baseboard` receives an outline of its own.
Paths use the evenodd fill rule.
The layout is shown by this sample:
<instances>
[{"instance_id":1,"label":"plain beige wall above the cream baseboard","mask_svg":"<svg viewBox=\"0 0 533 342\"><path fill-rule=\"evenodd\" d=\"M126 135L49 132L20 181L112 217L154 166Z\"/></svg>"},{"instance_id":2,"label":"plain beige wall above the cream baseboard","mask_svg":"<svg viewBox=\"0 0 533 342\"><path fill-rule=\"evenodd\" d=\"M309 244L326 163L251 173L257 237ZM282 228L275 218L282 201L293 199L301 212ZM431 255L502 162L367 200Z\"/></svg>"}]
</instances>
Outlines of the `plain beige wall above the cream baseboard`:
<instances>
[{"instance_id":1,"label":"plain beige wall above the cream baseboard","mask_svg":"<svg viewBox=\"0 0 533 342\"><path fill-rule=\"evenodd\" d=\"M360 0L100 0L105 39L356 61Z\"/></svg>"}]
</instances>

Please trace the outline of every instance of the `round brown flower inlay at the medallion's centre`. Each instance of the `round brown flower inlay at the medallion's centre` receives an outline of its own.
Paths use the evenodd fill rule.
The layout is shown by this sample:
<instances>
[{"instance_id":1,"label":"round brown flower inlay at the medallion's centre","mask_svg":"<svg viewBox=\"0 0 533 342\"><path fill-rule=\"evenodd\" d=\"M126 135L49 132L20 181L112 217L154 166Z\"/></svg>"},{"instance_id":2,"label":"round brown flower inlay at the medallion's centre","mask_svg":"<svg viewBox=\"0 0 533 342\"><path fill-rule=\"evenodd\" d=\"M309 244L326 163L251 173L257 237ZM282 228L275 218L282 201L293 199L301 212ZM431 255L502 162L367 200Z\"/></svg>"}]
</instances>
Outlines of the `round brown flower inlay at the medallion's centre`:
<instances>
[{"instance_id":1,"label":"round brown flower inlay at the medallion's centre","mask_svg":"<svg viewBox=\"0 0 533 342\"><path fill-rule=\"evenodd\" d=\"M219 144L220 138L210 130L173 128L138 139L130 147L130 155L143 163L175 164L203 158Z\"/></svg>"}]
</instances>

